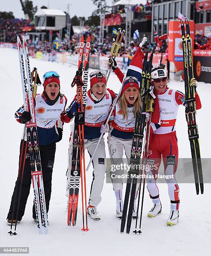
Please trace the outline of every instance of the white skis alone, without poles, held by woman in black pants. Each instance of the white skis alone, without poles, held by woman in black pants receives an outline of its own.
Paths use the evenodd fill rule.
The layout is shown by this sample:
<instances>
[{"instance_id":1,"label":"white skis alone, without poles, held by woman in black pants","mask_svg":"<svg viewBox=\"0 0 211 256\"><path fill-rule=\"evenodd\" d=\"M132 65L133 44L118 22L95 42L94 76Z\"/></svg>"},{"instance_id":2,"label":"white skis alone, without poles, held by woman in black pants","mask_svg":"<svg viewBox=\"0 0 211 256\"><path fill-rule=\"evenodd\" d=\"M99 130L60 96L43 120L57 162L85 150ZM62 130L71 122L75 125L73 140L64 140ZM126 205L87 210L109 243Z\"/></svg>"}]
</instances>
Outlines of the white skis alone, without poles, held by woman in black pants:
<instances>
[{"instance_id":1,"label":"white skis alone, without poles, held by woman in black pants","mask_svg":"<svg viewBox=\"0 0 211 256\"><path fill-rule=\"evenodd\" d=\"M34 193L34 203L36 208L37 227L38 227L38 233L41 234L42 225L43 225L44 232L47 234L48 220L47 220L47 212L46 212L46 202L45 202L45 194L44 194L44 187L43 187L43 177L42 177L41 159L40 159L40 151L39 151L39 145L38 145L38 135L37 135L36 115L35 115L35 105L34 105L34 97L36 96L36 93L34 93L33 85L36 83L36 81L33 84L32 76L34 72L32 72L31 74L31 71L30 71L30 62L29 62L28 46L26 43L26 39L23 36L23 46L21 45L19 37L17 37L17 40L18 40L19 60L22 65L21 80L22 80L22 89L23 89L24 109L25 111L30 111L31 113L31 121L27 122L25 124L25 127L26 127L26 137L27 137L28 152L29 152L30 165L31 165L31 175L32 175L33 193ZM23 56L25 59L26 76L24 72ZM27 83L27 86L26 86L26 83Z\"/></svg>"}]
</instances>

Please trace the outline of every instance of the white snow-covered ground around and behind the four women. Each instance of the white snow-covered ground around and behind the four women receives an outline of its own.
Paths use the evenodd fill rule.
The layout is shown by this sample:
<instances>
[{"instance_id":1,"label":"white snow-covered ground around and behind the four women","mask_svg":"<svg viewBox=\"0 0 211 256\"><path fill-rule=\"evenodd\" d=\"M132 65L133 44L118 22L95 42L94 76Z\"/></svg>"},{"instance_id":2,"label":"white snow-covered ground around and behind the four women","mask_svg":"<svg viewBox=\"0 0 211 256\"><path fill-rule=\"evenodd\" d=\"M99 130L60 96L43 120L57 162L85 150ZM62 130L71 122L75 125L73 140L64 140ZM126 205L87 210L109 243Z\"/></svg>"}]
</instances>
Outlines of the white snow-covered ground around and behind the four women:
<instances>
[{"instance_id":1,"label":"white snow-covered ground around and behind the four women","mask_svg":"<svg viewBox=\"0 0 211 256\"><path fill-rule=\"evenodd\" d=\"M89 232L82 232L81 202L79 202L77 224L66 225L66 169L69 141L69 124L64 125L64 135L57 144L53 168L52 195L48 213L48 235L38 235L36 223L32 220L33 193L31 191L25 215L17 226L17 236L10 236L6 217L10 206L15 180L18 173L19 143L23 125L15 121L14 113L23 102L18 65L18 51L0 48L0 80L2 96L0 101L0 246L27 246L30 255L208 255L211 240L211 185L205 184L204 194L196 196L195 184L180 184L180 219L178 225L167 227L170 201L167 184L159 184L162 213L156 218L147 218L151 201L145 191L142 218L142 234L120 234L120 220L115 217L115 196L112 184L104 184L102 202L98 206L100 221L89 220ZM31 59L31 68L37 67L40 77L46 71L55 70L61 76L61 90L70 103L75 88L70 84L76 72L75 66ZM108 87L119 91L119 81L114 74ZM182 82L171 82L170 87L184 91ZM43 87L38 88L42 92ZM211 95L211 84L198 83L202 109L198 110L201 156L210 158L210 137L207 128ZM177 136L180 157L191 157L184 108L180 106L177 119ZM107 157L109 153L107 150ZM89 156L86 154L86 164ZM92 182L92 168L86 174L87 194ZM132 228L135 225L133 220Z\"/></svg>"}]
</instances>

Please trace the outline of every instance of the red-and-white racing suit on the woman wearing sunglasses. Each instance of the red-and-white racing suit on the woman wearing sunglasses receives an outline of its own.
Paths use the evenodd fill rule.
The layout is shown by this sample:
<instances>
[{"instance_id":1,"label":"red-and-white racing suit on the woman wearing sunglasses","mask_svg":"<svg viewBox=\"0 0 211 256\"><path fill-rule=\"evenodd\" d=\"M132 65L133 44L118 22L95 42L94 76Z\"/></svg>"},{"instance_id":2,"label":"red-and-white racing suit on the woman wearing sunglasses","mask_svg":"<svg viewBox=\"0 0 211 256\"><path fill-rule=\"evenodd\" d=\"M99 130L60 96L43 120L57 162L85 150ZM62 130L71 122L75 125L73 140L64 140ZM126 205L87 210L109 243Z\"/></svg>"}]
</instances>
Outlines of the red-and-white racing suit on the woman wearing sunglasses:
<instances>
[{"instance_id":1,"label":"red-and-white racing suit on the woman wearing sunglasses","mask_svg":"<svg viewBox=\"0 0 211 256\"><path fill-rule=\"evenodd\" d=\"M147 189L153 203L160 202L156 175L158 175L162 157L165 175L166 177L171 177L170 179L166 178L171 210L178 210L180 202L179 187L174 177L178 164L178 144L175 123L179 105L185 105L185 95L178 90L167 87L164 92L157 92L157 96L160 108L161 126L150 135L148 164L153 164L153 169L147 172L149 175L147 178ZM201 101L196 92L196 109L200 108ZM152 176L154 176L154 178L150 178Z\"/></svg>"}]
</instances>

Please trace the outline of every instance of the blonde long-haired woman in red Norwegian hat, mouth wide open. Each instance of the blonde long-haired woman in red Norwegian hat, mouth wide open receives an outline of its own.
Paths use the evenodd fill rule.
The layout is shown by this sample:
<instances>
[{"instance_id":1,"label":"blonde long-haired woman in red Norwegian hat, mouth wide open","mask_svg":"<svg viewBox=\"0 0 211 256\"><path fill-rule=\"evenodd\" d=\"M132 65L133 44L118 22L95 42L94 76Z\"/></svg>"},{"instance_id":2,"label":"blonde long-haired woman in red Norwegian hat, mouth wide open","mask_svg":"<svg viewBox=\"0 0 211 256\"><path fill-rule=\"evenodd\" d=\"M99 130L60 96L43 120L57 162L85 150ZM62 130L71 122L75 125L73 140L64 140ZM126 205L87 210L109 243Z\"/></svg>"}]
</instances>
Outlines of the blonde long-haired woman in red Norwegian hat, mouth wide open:
<instances>
[{"instance_id":1,"label":"blonde long-haired woman in red Norwegian hat, mouth wide open","mask_svg":"<svg viewBox=\"0 0 211 256\"><path fill-rule=\"evenodd\" d=\"M128 163L130 161L135 118L138 113L141 114L141 107L139 82L136 77L126 77L122 83L122 92L112 114L114 118L108 136L109 155L112 164L115 164L115 166L122 163L123 150L127 156ZM120 168L116 169L115 172L111 172L110 175L117 200L117 218L122 217L123 210L122 174L124 174L124 169ZM136 217L136 212L137 207L136 202L134 202L133 217Z\"/></svg>"}]
</instances>

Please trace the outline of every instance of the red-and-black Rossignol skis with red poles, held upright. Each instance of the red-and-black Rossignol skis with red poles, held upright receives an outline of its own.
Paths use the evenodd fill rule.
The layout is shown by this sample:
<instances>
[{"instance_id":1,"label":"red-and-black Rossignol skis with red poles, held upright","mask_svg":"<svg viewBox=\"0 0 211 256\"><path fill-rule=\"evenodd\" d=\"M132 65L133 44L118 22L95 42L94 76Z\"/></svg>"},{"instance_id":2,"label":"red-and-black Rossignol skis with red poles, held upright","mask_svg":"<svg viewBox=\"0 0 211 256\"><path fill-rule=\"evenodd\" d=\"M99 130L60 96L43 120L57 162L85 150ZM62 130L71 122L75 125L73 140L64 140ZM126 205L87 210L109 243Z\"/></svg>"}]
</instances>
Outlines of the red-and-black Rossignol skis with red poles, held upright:
<instances>
[{"instance_id":1,"label":"red-and-black Rossignol skis with red poles, held upright","mask_svg":"<svg viewBox=\"0 0 211 256\"><path fill-rule=\"evenodd\" d=\"M76 76L71 84L72 87L76 85L78 103L78 111L75 114L74 133L73 133L73 152L71 162L69 200L68 200L68 217L67 225L76 225L78 200L79 200L79 186L81 179L81 200L82 200L82 218L83 228L81 230L88 231L87 222L87 204L86 204L86 169L84 157L84 123L85 123L85 108L86 108L86 94L87 82L89 72L89 49L90 36L86 40L86 49L84 52L84 36L81 36L79 48L79 64ZM83 55L85 56L83 68ZM82 78L83 76L83 78ZM85 209L84 209L85 208ZM85 215L85 217L84 217ZM86 224L85 224L86 220Z\"/></svg>"}]
</instances>

